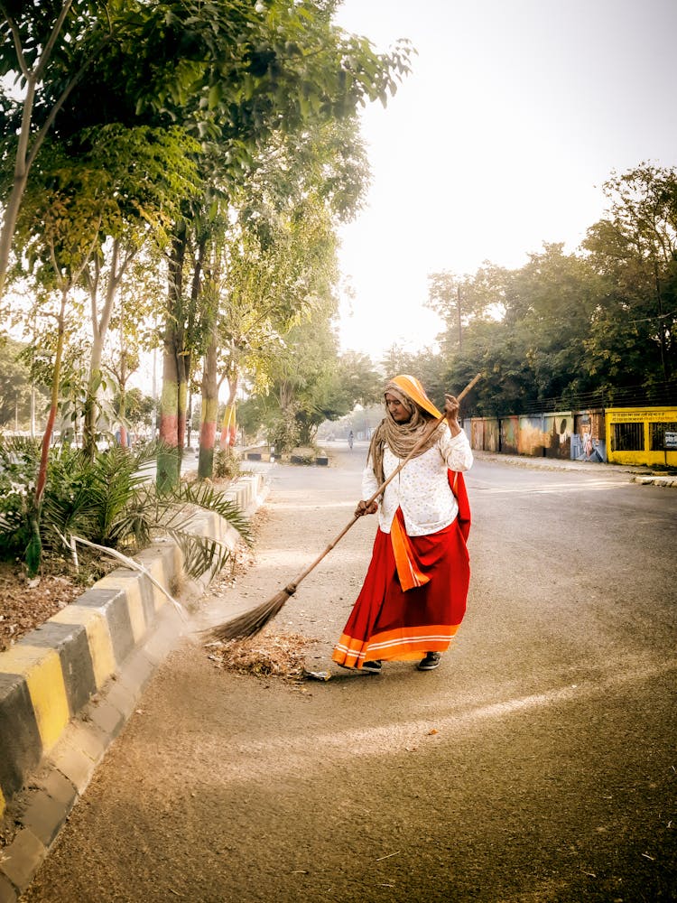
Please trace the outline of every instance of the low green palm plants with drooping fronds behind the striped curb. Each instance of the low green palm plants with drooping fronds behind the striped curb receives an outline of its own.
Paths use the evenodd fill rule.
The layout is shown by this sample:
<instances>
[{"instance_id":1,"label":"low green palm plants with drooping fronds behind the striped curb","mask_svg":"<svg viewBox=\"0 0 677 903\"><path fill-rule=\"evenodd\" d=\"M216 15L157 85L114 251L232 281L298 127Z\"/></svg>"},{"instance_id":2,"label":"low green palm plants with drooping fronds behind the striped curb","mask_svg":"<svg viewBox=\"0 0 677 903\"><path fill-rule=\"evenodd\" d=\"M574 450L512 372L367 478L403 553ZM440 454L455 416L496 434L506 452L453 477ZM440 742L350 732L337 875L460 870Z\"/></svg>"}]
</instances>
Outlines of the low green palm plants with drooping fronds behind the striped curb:
<instances>
[{"instance_id":1,"label":"low green palm plants with drooping fronds behind the striped curb","mask_svg":"<svg viewBox=\"0 0 677 903\"><path fill-rule=\"evenodd\" d=\"M248 543L246 517L236 504L209 484L181 483L162 492L153 471L161 443L138 451L121 446L97 452L93 460L69 445L51 450L41 511L44 548L61 553L77 535L97 545L134 554L160 535L181 547L186 573L216 573L229 557L227 545L191 531L199 509L223 517ZM30 498L40 461L40 446L31 440L0 441L0 556L24 553L30 537L26 498Z\"/></svg>"}]
</instances>

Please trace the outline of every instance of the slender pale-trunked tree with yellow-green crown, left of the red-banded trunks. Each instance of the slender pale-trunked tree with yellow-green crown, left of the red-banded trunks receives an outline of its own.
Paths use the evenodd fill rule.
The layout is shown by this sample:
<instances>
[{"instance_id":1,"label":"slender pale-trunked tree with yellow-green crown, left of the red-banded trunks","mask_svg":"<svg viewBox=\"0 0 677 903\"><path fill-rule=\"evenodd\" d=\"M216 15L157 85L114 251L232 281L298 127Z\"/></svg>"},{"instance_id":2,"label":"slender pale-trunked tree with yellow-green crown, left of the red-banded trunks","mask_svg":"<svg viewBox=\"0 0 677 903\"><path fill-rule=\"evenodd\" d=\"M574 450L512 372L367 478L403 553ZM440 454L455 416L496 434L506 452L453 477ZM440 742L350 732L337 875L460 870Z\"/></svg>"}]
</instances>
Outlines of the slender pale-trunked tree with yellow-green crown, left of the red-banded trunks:
<instances>
[{"instance_id":1,"label":"slender pale-trunked tree with yellow-green crown, left of the red-banded trunks","mask_svg":"<svg viewBox=\"0 0 677 903\"><path fill-rule=\"evenodd\" d=\"M97 440L98 395L103 386L102 355L116 293L139 251L162 248L166 228L181 200L195 191L190 153L198 144L175 127L101 126L88 129L65 147L49 143L35 163L24 195L19 247L45 256L45 203L59 205L88 236L90 256L82 270L89 295L90 360L84 410L84 447L93 457Z\"/></svg>"}]
</instances>

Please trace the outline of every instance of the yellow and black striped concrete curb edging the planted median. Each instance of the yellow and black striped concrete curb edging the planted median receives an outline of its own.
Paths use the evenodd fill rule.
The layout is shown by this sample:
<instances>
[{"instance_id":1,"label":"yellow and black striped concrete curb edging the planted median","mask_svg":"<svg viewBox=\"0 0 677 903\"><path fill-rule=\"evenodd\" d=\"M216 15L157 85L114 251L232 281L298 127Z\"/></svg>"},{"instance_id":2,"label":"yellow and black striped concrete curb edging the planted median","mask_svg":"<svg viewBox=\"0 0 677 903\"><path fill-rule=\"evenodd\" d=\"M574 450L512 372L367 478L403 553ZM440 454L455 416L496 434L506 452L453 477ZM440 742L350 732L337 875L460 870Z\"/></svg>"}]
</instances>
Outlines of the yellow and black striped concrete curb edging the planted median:
<instances>
[{"instance_id":1,"label":"yellow and black striped concrete curb edging the planted median","mask_svg":"<svg viewBox=\"0 0 677 903\"><path fill-rule=\"evenodd\" d=\"M247 514L264 494L261 474L226 493ZM209 512L193 517L191 529L236 544L235 530ZM181 552L169 540L137 561L169 592L181 582ZM0 848L0 903L15 903L31 883L182 628L144 573L118 568L0 653L0 819L16 827Z\"/></svg>"}]
</instances>

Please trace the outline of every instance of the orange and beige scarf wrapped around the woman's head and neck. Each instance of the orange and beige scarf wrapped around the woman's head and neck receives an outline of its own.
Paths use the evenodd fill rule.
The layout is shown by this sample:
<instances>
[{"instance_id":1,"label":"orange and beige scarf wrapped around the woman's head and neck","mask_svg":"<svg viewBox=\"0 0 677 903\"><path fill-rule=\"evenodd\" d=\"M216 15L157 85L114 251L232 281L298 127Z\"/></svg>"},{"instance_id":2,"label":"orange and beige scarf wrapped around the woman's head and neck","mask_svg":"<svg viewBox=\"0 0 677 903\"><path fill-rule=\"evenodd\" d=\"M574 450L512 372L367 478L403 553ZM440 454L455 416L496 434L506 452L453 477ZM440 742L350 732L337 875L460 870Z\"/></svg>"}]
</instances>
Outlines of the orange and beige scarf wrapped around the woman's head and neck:
<instances>
[{"instance_id":1,"label":"orange and beige scarf wrapped around the woman's head and neck","mask_svg":"<svg viewBox=\"0 0 677 903\"><path fill-rule=\"evenodd\" d=\"M429 428L431 419L441 417L441 412L432 404L416 377L410 377L408 374L394 377L385 386L384 398L386 394L398 398L412 415L406 424L398 424L386 407L385 417L374 431L369 445L369 458L379 485L385 480L383 470L385 445L398 458L406 458L416 442L419 442L422 434ZM437 439L438 431L434 430L413 457L417 458L423 452L427 452L437 442Z\"/></svg>"}]
</instances>

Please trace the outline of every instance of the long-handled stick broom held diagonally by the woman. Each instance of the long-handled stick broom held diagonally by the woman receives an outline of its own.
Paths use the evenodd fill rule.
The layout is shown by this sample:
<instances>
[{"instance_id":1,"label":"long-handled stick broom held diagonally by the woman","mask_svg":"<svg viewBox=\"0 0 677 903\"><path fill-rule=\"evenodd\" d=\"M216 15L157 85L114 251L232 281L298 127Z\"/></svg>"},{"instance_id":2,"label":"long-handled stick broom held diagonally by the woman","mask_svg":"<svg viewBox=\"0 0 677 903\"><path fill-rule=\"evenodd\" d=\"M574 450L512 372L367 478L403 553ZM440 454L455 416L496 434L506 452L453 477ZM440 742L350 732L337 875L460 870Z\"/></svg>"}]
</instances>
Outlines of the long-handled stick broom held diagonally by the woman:
<instances>
[{"instance_id":1,"label":"long-handled stick broom held diagonally by the woman","mask_svg":"<svg viewBox=\"0 0 677 903\"><path fill-rule=\"evenodd\" d=\"M468 392L471 388L473 388L473 386L478 383L480 377L481 374L478 373L476 377L473 377L470 380L468 386L466 386L460 393L460 395L457 396L458 401L461 401L465 396L468 395ZM404 458L403 461L400 462L400 464L398 464L398 466L390 474L388 479L385 479L384 482L381 483L378 489L376 489L374 495L366 500L366 507L369 507L373 502L376 501L376 498L381 495L391 479L394 479L400 472L400 470L403 469L404 465L413 458L414 454L418 452L424 442L427 442L432 433L435 432L435 430L443 420L444 414L442 414L441 417L438 417L437 420L435 420L433 424L431 424L431 428L423 433L421 439L413 446L412 451L409 452L409 454L406 456L406 458ZM311 571L313 571L318 566L321 560L326 555L328 555L329 552L331 552L334 546L337 545L341 539L343 539L343 537L348 533L350 527L357 523L359 517L360 516L356 514L353 519L349 521L346 526L344 526L338 536L335 537L333 542L329 543L327 548L320 555L318 555L315 561L311 565L309 565L309 567L307 567L305 571L300 573L296 580L288 583L283 590L277 592L272 599L263 602L261 605L257 605L254 609L243 612L236 618L227 620L223 624L217 624L215 627L201 631L205 635L207 642L225 643L233 639L246 639L255 637L257 633L263 630L268 621L274 619L275 615L283 608L284 603L288 599L290 599L296 592L299 583L301 583L302 580L305 580L308 574L311 573Z\"/></svg>"}]
</instances>

